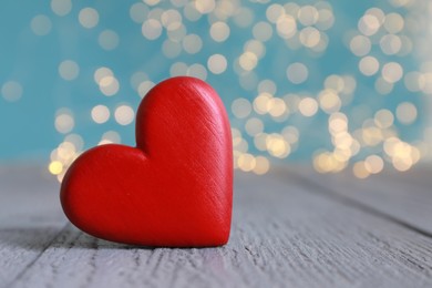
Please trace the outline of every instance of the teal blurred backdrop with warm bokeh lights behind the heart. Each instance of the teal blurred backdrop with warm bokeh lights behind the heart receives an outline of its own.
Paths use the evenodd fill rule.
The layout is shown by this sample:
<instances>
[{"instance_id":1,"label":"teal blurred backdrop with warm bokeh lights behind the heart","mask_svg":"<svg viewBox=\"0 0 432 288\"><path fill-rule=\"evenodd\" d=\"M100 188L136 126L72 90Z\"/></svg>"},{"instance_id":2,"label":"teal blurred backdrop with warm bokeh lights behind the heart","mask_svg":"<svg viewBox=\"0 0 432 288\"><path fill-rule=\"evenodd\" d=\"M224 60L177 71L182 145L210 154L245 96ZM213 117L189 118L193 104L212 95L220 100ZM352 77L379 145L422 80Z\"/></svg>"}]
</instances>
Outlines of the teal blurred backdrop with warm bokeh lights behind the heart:
<instances>
[{"instance_id":1,"label":"teal blurred backdrop with warm bokeh lights behind the heart","mask_svg":"<svg viewBox=\"0 0 432 288\"><path fill-rule=\"evenodd\" d=\"M428 0L3 0L0 162L61 181L89 147L134 145L145 93L192 75L226 105L236 168L407 171L431 155L431 14Z\"/></svg>"}]
</instances>

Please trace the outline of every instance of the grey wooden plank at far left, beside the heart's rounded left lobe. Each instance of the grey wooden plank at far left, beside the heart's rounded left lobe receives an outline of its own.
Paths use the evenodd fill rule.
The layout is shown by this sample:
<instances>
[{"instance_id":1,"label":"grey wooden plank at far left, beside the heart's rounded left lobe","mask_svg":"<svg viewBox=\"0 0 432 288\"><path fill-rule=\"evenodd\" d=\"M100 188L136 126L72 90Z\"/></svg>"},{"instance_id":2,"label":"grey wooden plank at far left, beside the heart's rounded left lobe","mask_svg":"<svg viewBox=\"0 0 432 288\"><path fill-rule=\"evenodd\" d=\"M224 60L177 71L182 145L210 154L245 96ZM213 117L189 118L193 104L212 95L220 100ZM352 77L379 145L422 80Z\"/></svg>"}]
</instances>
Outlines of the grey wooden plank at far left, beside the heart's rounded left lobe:
<instances>
[{"instance_id":1,"label":"grey wooden plank at far left, beside the heart's rounded left lobe","mask_svg":"<svg viewBox=\"0 0 432 288\"><path fill-rule=\"evenodd\" d=\"M0 168L0 287L13 281L66 224L58 184L40 167Z\"/></svg>"}]
</instances>

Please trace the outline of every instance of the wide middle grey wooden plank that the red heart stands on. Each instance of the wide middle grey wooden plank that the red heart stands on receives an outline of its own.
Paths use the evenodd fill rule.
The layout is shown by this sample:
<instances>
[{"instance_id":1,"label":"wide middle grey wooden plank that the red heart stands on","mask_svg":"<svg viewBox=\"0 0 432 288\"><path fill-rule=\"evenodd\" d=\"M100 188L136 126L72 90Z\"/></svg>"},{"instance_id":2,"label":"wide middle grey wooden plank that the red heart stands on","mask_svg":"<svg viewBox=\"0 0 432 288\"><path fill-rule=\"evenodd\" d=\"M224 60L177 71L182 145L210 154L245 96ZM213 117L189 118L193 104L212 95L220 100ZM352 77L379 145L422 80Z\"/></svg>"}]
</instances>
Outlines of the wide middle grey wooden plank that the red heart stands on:
<instances>
[{"instance_id":1,"label":"wide middle grey wooden plank that the red heart stands on","mask_svg":"<svg viewBox=\"0 0 432 288\"><path fill-rule=\"evenodd\" d=\"M224 247L136 248L68 225L10 286L432 286L431 237L313 191L316 185L292 175L236 175L233 233ZM50 205L58 204L45 207L55 210ZM33 245L39 241L47 243L35 239ZM0 238L0 247L14 246ZM6 263L0 261L0 270Z\"/></svg>"}]
</instances>

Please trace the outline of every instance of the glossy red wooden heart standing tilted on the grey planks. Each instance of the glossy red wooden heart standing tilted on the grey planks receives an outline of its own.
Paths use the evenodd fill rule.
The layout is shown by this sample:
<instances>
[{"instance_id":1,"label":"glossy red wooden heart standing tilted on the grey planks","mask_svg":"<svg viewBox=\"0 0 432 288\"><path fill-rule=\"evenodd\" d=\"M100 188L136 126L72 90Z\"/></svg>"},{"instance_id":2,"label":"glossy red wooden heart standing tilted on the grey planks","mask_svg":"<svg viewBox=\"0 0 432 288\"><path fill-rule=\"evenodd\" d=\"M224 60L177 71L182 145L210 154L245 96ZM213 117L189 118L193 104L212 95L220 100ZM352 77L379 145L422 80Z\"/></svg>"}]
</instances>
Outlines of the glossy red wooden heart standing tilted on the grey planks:
<instances>
[{"instance_id":1,"label":"glossy red wooden heart standing tilted on the grey planks","mask_svg":"<svg viewBox=\"0 0 432 288\"><path fill-rule=\"evenodd\" d=\"M136 147L109 144L69 168L61 203L82 230L144 246L203 247L228 241L233 152L217 93L173 78L142 101Z\"/></svg>"}]
</instances>

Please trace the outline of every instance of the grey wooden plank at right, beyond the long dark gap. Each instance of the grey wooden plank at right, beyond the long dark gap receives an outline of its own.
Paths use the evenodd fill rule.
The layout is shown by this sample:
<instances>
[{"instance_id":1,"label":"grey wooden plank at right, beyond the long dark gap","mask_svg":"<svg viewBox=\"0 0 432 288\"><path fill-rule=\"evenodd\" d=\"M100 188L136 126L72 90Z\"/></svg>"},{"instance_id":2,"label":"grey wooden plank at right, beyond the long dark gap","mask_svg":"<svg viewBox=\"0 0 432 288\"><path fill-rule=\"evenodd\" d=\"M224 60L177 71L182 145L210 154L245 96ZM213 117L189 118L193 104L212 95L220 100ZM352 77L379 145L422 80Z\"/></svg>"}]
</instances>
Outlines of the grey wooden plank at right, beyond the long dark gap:
<instances>
[{"instance_id":1,"label":"grey wooden plank at right, beyond the long dark gap","mask_svg":"<svg viewBox=\"0 0 432 288\"><path fill-rule=\"evenodd\" d=\"M280 169L280 173L315 183L321 191L329 189L432 235L432 169L429 166L407 173L385 172L367 179L358 179L349 172L322 175L308 168Z\"/></svg>"}]
</instances>

